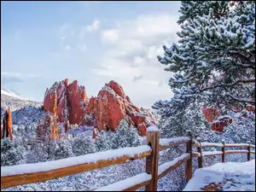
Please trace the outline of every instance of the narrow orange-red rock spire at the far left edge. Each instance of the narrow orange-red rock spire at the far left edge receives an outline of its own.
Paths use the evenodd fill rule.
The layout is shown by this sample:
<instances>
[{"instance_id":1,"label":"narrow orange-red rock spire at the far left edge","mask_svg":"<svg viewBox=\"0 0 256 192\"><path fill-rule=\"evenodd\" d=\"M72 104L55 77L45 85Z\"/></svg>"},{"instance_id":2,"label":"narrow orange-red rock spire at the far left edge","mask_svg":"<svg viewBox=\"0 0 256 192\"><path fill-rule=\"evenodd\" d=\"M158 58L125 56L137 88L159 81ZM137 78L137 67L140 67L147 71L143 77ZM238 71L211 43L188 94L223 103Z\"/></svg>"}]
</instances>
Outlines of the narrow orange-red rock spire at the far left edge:
<instances>
[{"instance_id":1,"label":"narrow orange-red rock spire at the far left edge","mask_svg":"<svg viewBox=\"0 0 256 192\"><path fill-rule=\"evenodd\" d=\"M4 137L10 137L11 140L13 139L13 121L10 108L4 112L3 125L1 125L1 139Z\"/></svg>"}]
</instances>

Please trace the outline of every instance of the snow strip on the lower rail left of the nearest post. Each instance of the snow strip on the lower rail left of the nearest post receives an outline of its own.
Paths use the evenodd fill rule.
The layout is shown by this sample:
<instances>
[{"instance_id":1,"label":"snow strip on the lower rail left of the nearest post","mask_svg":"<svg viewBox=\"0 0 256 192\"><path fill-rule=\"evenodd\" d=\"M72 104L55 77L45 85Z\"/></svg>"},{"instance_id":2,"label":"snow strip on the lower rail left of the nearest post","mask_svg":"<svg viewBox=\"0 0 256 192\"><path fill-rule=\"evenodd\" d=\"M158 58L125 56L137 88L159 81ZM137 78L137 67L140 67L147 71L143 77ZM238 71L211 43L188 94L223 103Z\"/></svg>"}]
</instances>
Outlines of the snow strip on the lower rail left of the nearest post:
<instances>
[{"instance_id":1,"label":"snow strip on the lower rail left of the nearest post","mask_svg":"<svg viewBox=\"0 0 256 192\"><path fill-rule=\"evenodd\" d=\"M132 186L135 186L139 183L147 182L151 179L151 174L143 172L134 177L129 177L125 180L119 181L117 183L110 184L106 187L102 187L100 189L96 189L95 191L123 191Z\"/></svg>"}]
</instances>

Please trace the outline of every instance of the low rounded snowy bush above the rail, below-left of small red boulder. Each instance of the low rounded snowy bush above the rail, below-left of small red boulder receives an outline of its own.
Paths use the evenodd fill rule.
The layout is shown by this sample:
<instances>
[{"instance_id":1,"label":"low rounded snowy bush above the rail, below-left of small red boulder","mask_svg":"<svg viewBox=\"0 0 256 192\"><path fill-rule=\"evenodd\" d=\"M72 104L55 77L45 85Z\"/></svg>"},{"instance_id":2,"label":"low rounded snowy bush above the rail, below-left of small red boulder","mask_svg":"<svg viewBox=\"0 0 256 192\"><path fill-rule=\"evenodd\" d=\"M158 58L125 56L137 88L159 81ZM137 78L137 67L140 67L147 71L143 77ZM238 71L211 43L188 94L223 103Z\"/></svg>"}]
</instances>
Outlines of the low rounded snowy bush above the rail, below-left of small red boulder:
<instances>
[{"instance_id":1,"label":"low rounded snowy bush above the rail, below-left of small red boulder","mask_svg":"<svg viewBox=\"0 0 256 192\"><path fill-rule=\"evenodd\" d=\"M86 136L84 133L81 133L76 137L73 137L72 150L73 154L76 156L93 154L96 153L96 146L90 137Z\"/></svg>"}]
</instances>

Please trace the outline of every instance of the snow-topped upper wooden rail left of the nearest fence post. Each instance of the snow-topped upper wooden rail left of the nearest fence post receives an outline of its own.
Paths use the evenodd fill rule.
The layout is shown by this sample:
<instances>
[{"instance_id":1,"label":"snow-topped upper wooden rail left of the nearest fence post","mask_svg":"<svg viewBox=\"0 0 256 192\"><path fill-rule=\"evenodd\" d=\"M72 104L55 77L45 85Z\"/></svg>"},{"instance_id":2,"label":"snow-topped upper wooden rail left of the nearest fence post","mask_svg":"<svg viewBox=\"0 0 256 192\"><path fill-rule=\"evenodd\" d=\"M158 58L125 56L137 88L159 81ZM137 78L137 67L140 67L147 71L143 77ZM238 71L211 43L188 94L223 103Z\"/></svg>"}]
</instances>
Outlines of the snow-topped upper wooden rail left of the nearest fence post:
<instances>
[{"instance_id":1,"label":"snow-topped upper wooden rail left of the nearest fence post","mask_svg":"<svg viewBox=\"0 0 256 192\"><path fill-rule=\"evenodd\" d=\"M141 159L148 157L150 154L151 148L148 145L144 145L42 163L2 166L1 189L20 184L42 182L80 172L88 172L105 166L124 164L127 160Z\"/></svg>"}]
</instances>

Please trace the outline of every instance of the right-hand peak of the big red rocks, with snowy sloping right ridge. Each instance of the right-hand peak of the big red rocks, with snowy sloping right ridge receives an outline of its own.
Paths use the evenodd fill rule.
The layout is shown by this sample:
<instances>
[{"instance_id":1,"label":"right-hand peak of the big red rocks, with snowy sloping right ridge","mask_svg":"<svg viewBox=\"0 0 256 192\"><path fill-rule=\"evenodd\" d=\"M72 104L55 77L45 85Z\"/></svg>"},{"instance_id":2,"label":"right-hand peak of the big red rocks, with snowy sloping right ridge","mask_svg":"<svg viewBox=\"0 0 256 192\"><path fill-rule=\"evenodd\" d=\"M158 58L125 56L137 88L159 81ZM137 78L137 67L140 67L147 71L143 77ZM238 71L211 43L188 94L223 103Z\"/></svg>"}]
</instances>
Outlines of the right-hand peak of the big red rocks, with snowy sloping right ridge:
<instances>
[{"instance_id":1,"label":"right-hand peak of the big red rocks, with snowy sloping right ridge","mask_svg":"<svg viewBox=\"0 0 256 192\"><path fill-rule=\"evenodd\" d=\"M112 130L118 128L119 121L126 119L129 125L135 125L140 135L146 135L147 127L154 125L154 119L146 116L131 103L125 91L116 82L110 81L100 90L97 97L91 97L86 106L86 113L96 118L98 130Z\"/></svg>"}]
</instances>

